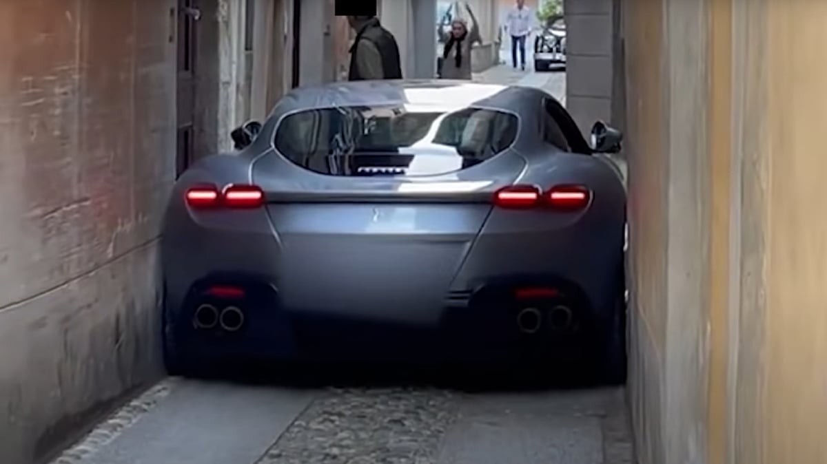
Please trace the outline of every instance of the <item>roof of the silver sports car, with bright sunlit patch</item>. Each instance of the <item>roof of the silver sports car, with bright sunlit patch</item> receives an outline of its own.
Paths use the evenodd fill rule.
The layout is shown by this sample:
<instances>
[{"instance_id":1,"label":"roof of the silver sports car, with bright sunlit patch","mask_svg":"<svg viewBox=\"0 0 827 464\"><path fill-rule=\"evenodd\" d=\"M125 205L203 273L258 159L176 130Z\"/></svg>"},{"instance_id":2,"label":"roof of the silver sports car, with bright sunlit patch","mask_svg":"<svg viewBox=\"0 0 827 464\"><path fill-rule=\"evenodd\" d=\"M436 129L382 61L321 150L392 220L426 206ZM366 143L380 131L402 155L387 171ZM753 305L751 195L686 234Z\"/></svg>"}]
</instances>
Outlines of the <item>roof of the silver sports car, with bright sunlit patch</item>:
<instances>
[{"instance_id":1,"label":"roof of the silver sports car, with bright sunlit patch","mask_svg":"<svg viewBox=\"0 0 827 464\"><path fill-rule=\"evenodd\" d=\"M486 107L518 111L536 89L447 79L404 79L327 83L295 88L275 108L275 113L321 107L379 107L404 105L434 111Z\"/></svg>"}]
</instances>

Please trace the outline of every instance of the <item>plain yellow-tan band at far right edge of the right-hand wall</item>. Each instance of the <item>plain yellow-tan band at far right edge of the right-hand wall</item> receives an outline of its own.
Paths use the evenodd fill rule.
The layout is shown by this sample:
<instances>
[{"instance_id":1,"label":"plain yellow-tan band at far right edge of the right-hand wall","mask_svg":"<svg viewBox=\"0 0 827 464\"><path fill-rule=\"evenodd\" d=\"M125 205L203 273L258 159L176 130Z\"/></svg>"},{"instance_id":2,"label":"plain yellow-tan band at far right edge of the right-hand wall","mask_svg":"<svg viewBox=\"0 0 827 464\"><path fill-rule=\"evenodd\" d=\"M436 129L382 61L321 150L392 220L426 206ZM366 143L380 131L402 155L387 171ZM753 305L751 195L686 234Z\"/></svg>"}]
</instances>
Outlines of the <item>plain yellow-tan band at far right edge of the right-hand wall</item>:
<instances>
[{"instance_id":1,"label":"plain yellow-tan band at far right edge of the right-hand wall","mask_svg":"<svg viewBox=\"0 0 827 464\"><path fill-rule=\"evenodd\" d=\"M816 464L827 462L827 62L814 45L827 42L827 3L766 7L765 420L754 462Z\"/></svg>"}]
</instances>

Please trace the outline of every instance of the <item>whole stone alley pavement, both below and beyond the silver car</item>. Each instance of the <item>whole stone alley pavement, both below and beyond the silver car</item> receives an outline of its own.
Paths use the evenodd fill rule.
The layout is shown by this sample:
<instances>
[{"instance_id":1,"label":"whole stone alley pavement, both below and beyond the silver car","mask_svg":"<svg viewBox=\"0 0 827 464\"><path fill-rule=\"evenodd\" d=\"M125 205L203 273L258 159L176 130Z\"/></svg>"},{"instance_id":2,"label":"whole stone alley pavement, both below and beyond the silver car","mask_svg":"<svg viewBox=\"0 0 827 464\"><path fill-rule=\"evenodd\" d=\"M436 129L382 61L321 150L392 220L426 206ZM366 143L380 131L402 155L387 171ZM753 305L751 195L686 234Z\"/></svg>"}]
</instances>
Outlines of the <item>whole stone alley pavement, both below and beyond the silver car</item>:
<instances>
[{"instance_id":1,"label":"whole stone alley pavement, both below and beyond the silver car","mask_svg":"<svg viewBox=\"0 0 827 464\"><path fill-rule=\"evenodd\" d=\"M565 73L498 66L478 82L564 97ZM290 389L170 379L55 464L631 464L622 388L471 393Z\"/></svg>"}]
</instances>

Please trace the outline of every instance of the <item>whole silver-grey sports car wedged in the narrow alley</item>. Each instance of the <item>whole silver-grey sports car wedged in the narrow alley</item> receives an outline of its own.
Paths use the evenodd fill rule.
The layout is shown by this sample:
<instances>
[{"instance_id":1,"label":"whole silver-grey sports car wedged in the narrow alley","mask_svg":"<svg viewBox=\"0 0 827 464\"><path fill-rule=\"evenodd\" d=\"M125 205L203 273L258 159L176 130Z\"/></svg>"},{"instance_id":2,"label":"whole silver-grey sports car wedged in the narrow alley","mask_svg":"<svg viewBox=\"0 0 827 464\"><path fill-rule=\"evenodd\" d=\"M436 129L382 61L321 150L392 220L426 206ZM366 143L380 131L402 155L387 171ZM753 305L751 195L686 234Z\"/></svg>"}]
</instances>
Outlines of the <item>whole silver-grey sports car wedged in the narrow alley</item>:
<instances>
[{"instance_id":1,"label":"whole silver-grey sports car wedged in the narrow alley","mask_svg":"<svg viewBox=\"0 0 827 464\"><path fill-rule=\"evenodd\" d=\"M536 88L299 88L179 178L172 372L241 360L537 362L625 374L624 183ZM572 348L576 347L576 348Z\"/></svg>"}]
</instances>

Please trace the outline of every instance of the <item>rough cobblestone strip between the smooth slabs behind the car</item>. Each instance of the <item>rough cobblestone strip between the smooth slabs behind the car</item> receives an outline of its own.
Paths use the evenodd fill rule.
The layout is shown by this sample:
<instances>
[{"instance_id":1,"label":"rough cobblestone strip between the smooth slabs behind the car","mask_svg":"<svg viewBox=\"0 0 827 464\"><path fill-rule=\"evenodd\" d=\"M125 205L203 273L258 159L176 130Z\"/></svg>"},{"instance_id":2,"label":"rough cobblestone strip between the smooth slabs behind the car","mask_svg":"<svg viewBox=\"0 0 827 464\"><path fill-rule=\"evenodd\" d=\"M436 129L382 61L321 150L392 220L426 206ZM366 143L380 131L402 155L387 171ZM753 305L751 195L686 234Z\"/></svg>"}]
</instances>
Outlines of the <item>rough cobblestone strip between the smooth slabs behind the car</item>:
<instances>
[{"instance_id":1,"label":"rough cobblestone strip between the smooth slabs behind the car","mask_svg":"<svg viewBox=\"0 0 827 464\"><path fill-rule=\"evenodd\" d=\"M429 464L456 416L457 395L450 391L330 391L257 464Z\"/></svg>"}]
</instances>

